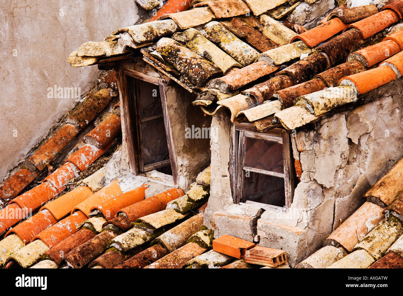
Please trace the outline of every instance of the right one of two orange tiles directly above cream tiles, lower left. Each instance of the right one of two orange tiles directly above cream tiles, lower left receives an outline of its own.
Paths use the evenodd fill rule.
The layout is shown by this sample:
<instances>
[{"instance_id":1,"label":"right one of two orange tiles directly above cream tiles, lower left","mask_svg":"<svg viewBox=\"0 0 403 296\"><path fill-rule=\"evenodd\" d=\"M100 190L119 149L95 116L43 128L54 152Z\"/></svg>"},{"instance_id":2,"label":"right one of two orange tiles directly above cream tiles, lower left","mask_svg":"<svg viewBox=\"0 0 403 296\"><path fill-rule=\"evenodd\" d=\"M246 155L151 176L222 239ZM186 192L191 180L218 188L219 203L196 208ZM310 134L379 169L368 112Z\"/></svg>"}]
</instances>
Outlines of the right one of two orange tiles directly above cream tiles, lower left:
<instances>
[{"instance_id":1,"label":"right one of two orange tiles directly above cream tiles, lower left","mask_svg":"<svg viewBox=\"0 0 403 296\"><path fill-rule=\"evenodd\" d=\"M52 246L55 246L64 238L75 233L77 231L78 224L85 219L87 219L87 216L83 212L77 211L37 234L32 240L42 240L49 248L52 248Z\"/></svg>"}]
</instances>

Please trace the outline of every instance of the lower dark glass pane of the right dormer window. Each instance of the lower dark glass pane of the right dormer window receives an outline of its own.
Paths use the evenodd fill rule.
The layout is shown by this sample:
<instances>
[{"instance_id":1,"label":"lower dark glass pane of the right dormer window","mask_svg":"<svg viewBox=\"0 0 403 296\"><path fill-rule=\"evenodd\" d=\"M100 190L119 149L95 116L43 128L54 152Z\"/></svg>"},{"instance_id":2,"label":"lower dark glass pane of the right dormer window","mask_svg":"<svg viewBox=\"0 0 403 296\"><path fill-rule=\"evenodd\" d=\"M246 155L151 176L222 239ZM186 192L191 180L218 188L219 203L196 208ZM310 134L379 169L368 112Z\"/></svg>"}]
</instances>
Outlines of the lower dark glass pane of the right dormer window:
<instances>
[{"instance_id":1,"label":"lower dark glass pane of the right dormer window","mask_svg":"<svg viewBox=\"0 0 403 296\"><path fill-rule=\"evenodd\" d=\"M242 200L283 207L285 206L284 179L243 171Z\"/></svg>"}]
</instances>

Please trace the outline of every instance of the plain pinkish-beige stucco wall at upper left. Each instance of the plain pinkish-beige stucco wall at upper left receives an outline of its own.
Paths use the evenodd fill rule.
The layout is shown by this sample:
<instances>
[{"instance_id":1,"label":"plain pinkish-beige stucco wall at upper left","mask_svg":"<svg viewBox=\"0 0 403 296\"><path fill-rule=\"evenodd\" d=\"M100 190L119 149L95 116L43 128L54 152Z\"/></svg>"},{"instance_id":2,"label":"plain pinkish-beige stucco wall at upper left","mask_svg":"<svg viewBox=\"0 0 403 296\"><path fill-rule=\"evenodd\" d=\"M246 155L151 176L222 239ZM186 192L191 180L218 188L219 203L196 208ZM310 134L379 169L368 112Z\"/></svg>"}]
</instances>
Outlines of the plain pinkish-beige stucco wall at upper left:
<instances>
[{"instance_id":1,"label":"plain pinkish-beige stucco wall at upper left","mask_svg":"<svg viewBox=\"0 0 403 296\"><path fill-rule=\"evenodd\" d=\"M3 2L0 180L77 103L73 96L48 98L48 87L80 87L84 95L97 79L97 66L73 68L69 54L86 41L102 41L133 25L141 11L133 0Z\"/></svg>"}]
</instances>

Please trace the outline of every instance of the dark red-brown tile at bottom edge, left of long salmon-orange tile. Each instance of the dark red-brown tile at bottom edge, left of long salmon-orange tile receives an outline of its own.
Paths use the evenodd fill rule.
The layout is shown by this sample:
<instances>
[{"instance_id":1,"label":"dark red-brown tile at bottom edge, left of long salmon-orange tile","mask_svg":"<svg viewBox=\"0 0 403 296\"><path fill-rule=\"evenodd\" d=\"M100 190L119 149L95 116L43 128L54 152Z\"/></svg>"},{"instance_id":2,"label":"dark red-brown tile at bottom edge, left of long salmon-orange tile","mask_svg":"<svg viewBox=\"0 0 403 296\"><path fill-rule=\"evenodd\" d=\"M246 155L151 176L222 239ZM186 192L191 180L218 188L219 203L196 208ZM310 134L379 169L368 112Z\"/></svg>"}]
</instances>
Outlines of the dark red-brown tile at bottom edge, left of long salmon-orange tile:
<instances>
[{"instance_id":1,"label":"dark red-brown tile at bottom edge, left of long salmon-orange tile","mask_svg":"<svg viewBox=\"0 0 403 296\"><path fill-rule=\"evenodd\" d=\"M147 248L137 255L134 255L130 259L127 259L125 262L115 266L114 268L143 268L150 263L161 259L165 255L168 254L168 251L161 246L160 244L156 244Z\"/></svg>"}]
</instances>

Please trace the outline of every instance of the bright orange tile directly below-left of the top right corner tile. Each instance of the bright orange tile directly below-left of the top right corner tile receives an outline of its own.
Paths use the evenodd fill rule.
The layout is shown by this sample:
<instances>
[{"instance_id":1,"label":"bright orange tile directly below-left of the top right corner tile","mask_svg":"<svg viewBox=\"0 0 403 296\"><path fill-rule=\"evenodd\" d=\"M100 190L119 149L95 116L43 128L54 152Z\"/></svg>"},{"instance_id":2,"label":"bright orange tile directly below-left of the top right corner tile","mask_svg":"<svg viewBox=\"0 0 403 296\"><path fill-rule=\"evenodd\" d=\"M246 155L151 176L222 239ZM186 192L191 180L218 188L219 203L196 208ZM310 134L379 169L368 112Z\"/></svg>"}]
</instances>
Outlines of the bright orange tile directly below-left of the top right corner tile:
<instances>
[{"instance_id":1,"label":"bright orange tile directly below-left of the top right corner tile","mask_svg":"<svg viewBox=\"0 0 403 296\"><path fill-rule=\"evenodd\" d=\"M367 39L399 20L400 17L395 11L386 9L347 26L345 30L355 28L364 39Z\"/></svg>"}]
</instances>

